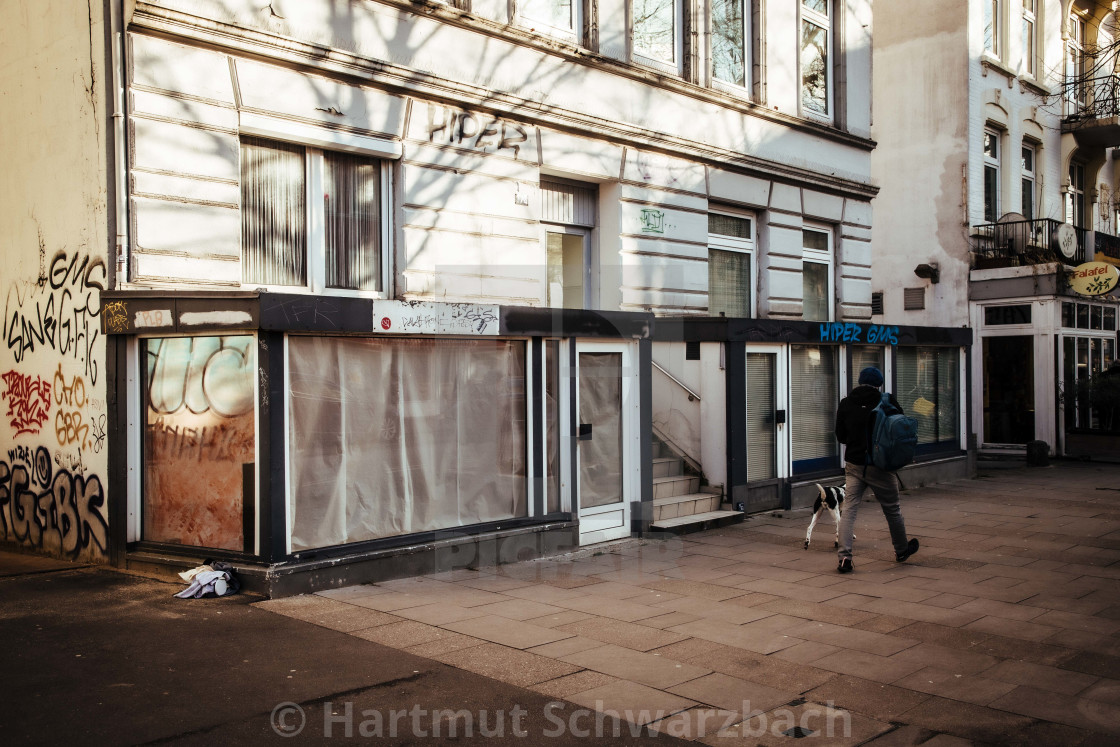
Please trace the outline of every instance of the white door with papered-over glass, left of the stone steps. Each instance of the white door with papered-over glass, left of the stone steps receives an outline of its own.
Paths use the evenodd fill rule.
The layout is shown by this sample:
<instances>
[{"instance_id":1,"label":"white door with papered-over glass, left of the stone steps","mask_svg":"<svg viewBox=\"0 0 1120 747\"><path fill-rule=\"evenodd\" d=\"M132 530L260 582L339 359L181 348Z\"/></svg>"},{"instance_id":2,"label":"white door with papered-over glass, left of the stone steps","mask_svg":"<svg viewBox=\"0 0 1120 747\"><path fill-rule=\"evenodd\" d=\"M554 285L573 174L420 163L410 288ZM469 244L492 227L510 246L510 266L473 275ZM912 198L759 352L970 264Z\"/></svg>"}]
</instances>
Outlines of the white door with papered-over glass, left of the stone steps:
<instances>
[{"instance_id":1,"label":"white door with papered-over glass, left of the stone steps","mask_svg":"<svg viewBox=\"0 0 1120 747\"><path fill-rule=\"evenodd\" d=\"M631 534L637 480L637 381L629 345L578 343L577 460L579 543Z\"/></svg>"}]
</instances>

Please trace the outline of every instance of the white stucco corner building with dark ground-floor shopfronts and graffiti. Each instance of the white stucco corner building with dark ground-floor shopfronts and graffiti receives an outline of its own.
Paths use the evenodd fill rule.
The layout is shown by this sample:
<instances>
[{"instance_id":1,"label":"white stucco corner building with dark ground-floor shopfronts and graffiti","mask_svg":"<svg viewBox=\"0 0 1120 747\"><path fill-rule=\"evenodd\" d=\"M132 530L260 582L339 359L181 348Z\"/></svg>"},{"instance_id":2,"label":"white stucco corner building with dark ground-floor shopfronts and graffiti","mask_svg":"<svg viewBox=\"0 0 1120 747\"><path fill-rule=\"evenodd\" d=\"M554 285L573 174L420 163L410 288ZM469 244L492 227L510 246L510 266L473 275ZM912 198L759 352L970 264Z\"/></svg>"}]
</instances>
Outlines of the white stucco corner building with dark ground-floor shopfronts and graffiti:
<instances>
[{"instance_id":1,"label":"white stucco corner building with dark ground-floor shopfronts and graffiti","mask_svg":"<svg viewBox=\"0 0 1120 747\"><path fill-rule=\"evenodd\" d=\"M8 544L282 596L738 521L868 365L972 468L972 330L872 292L869 0L41 6Z\"/></svg>"}]
</instances>

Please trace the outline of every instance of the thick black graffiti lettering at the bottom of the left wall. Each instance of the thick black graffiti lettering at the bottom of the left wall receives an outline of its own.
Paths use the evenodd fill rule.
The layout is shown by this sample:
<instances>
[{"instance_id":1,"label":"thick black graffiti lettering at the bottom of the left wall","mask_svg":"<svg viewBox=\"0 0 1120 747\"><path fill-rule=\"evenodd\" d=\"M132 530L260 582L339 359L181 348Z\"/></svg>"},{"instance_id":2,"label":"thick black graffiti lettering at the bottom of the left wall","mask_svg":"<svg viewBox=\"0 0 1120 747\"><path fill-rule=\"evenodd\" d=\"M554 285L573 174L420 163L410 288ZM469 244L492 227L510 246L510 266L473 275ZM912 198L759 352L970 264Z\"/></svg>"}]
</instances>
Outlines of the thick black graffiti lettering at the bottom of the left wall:
<instances>
[{"instance_id":1,"label":"thick black graffiti lettering at the bottom of the left wall","mask_svg":"<svg viewBox=\"0 0 1120 747\"><path fill-rule=\"evenodd\" d=\"M76 460L46 447L8 449L0 460L0 536L64 558L109 549L105 492Z\"/></svg>"}]
</instances>

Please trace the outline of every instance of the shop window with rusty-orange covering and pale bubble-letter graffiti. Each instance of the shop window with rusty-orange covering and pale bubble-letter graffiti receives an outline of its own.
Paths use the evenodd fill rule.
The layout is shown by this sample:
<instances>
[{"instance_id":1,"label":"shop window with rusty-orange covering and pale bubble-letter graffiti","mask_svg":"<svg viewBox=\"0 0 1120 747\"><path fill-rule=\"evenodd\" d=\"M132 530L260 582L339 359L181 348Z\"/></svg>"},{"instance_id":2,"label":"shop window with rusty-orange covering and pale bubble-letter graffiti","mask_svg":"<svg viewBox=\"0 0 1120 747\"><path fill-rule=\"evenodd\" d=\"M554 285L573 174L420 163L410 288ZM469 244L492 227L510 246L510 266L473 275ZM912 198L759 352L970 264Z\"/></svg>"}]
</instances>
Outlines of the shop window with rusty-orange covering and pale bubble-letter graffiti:
<instances>
[{"instance_id":1,"label":"shop window with rusty-orange covering and pale bubble-letter graffiti","mask_svg":"<svg viewBox=\"0 0 1120 747\"><path fill-rule=\"evenodd\" d=\"M255 338L142 340L141 538L253 552Z\"/></svg>"}]
</instances>

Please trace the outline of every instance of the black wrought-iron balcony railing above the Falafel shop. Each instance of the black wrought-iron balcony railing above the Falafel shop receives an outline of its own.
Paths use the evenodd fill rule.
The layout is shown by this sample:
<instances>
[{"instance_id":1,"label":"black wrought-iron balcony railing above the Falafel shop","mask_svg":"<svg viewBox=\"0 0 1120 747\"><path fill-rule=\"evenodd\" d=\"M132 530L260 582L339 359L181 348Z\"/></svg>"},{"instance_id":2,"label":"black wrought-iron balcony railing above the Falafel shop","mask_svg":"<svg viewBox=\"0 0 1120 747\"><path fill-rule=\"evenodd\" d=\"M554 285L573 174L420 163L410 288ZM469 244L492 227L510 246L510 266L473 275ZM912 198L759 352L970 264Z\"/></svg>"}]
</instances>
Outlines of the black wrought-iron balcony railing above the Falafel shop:
<instances>
[{"instance_id":1,"label":"black wrought-iron balcony railing above the Falafel shop","mask_svg":"<svg viewBox=\"0 0 1120 747\"><path fill-rule=\"evenodd\" d=\"M1063 262L1081 264L1088 256L1089 233L1074 228L1076 245L1073 256L1063 253L1058 244L1061 221L1039 218L1037 221L1008 221L984 223L972 226L972 251L974 267L1015 267Z\"/></svg>"}]
</instances>

